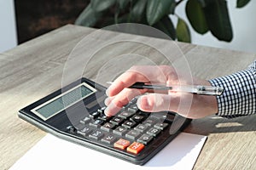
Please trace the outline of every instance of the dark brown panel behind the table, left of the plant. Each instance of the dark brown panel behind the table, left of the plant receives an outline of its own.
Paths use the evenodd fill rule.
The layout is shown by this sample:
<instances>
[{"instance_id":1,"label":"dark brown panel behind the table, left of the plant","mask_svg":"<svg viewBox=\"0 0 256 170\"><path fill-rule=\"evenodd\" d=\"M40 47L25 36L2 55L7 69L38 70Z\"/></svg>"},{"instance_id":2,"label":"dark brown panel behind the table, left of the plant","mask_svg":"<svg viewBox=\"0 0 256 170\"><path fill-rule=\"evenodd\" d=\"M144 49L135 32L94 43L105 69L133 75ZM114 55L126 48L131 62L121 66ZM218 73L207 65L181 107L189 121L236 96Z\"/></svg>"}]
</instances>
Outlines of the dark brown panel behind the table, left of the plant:
<instances>
[{"instance_id":1,"label":"dark brown panel behind the table, left of the plant","mask_svg":"<svg viewBox=\"0 0 256 170\"><path fill-rule=\"evenodd\" d=\"M15 0L18 43L73 24L90 0Z\"/></svg>"}]
</instances>

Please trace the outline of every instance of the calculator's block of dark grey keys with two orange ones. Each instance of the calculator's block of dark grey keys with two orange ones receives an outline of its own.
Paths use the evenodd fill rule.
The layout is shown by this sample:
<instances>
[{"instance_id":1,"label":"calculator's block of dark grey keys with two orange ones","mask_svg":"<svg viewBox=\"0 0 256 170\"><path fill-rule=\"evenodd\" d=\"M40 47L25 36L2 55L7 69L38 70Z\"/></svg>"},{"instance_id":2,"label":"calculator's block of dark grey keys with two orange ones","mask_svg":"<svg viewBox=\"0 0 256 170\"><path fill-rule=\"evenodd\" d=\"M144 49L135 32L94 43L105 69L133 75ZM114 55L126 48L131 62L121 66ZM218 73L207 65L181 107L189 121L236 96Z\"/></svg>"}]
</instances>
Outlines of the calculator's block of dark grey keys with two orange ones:
<instances>
[{"instance_id":1,"label":"calculator's block of dark grey keys with two orange ones","mask_svg":"<svg viewBox=\"0 0 256 170\"><path fill-rule=\"evenodd\" d=\"M79 121L77 134L109 147L138 155L170 127L174 116L165 112L147 113L137 109L136 99L115 116L104 115L105 107Z\"/></svg>"}]
</instances>

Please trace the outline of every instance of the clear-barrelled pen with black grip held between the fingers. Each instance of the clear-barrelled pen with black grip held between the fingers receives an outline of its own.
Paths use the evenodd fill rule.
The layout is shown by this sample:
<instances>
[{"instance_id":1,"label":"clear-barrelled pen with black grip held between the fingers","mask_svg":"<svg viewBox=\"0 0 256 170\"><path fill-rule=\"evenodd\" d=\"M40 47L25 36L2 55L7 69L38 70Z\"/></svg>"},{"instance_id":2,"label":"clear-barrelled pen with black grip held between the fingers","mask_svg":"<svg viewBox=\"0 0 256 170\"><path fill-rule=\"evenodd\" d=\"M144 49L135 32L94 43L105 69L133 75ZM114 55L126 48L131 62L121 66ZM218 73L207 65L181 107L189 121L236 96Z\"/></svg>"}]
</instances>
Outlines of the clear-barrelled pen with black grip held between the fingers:
<instances>
[{"instance_id":1,"label":"clear-barrelled pen with black grip held between the fingers","mask_svg":"<svg viewBox=\"0 0 256 170\"><path fill-rule=\"evenodd\" d=\"M107 83L112 84L113 82L107 82ZM183 93L200 94L200 95L221 95L224 91L224 88L212 87L212 86L202 86L202 85L162 86L162 85L145 84L144 82L136 82L133 85L131 85L129 88L171 90L173 92L183 92Z\"/></svg>"}]
</instances>

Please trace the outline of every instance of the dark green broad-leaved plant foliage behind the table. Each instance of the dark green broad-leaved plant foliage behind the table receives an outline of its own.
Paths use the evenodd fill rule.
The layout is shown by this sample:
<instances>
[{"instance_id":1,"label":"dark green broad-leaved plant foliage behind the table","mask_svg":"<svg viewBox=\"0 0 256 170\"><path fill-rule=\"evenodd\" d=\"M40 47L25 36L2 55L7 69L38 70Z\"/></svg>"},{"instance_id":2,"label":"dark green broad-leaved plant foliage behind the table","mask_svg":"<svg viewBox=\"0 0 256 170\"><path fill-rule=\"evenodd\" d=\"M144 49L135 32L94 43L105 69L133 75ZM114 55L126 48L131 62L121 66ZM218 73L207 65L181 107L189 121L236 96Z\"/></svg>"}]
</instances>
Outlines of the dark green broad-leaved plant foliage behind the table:
<instances>
[{"instance_id":1,"label":"dark green broad-leaved plant foliage behind the table","mask_svg":"<svg viewBox=\"0 0 256 170\"><path fill-rule=\"evenodd\" d=\"M140 23L164 31L173 40L191 42L188 23L175 13L183 0L90 0L75 21L76 25L102 28L119 23ZM242 8L250 0L236 0ZM220 41L233 38L230 15L225 0L188 0L185 7L189 24L200 33L211 31ZM170 15L177 17L174 26Z\"/></svg>"}]
</instances>

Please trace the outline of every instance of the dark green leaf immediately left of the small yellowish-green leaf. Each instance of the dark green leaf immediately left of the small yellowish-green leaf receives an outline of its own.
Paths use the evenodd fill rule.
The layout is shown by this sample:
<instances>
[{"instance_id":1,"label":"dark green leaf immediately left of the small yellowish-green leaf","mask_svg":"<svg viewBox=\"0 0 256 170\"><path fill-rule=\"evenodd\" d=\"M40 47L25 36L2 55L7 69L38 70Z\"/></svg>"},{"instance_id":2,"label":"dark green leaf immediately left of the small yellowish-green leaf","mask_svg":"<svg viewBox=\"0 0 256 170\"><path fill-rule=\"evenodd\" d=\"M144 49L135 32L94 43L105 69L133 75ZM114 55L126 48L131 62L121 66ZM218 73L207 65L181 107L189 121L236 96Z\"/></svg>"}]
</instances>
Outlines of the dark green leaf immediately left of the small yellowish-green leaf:
<instances>
[{"instance_id":1,"label":"dark green leaf immediately left of the small yellowish-green leaf","mask_svg":"<svg viewBox=\"0 0 256 170\"><path fill-rule=\"evenodd\" d=\"M172 20L168 15L165 15L160 21L153 25L155 28L163 31L172 38L172 40L176 39L176 30L172 24Z\"/></svg>"}]
</instances>

